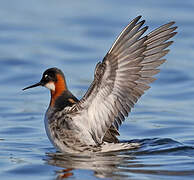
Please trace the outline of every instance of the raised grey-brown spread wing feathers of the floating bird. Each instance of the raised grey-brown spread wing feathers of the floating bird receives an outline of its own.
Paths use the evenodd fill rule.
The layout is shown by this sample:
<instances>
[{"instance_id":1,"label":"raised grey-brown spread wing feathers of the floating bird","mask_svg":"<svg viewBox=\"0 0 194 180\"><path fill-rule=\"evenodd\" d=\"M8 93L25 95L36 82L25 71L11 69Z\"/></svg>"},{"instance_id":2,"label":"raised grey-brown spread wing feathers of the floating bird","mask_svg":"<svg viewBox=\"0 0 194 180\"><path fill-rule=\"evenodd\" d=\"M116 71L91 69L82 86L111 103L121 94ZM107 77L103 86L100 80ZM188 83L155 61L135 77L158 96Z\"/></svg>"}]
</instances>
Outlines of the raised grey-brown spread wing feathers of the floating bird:
<instances>
[{"instance_id":1,"label":"raised grey-brown spread wing feathers of the floating bird","mask_svg":"<svg viewBox=\"0 0 194 180\"><path fill-rule=\"evenodd\" d=\"M80 100L79 123L89 131L96 143L102 143L107 130L119 128L134 104L149 89L157 74L161 59L172 44L177 27L165 24L142 37L147 26L136 17L122 31L102 62L95 69L94 80Z\"/></svg>"}]
</instances>

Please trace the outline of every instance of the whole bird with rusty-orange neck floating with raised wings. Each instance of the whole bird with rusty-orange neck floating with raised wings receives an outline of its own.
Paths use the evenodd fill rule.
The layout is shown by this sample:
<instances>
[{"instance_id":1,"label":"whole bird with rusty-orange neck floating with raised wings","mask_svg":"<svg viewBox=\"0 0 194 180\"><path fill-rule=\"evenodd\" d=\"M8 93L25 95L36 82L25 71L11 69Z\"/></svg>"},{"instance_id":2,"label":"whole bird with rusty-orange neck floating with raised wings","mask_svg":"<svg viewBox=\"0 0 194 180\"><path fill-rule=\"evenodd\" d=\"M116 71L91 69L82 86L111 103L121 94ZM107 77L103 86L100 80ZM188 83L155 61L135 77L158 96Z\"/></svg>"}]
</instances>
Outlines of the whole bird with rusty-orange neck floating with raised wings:
<instances>
[{"instance_id":1,"label":"whole bird with rusty-orange neck floating with raised wings","mask_svg":"<svg viewBox=\"0 0 194 180\"><path fill-rule=\"evenodd\" d=\"M63 72L47 69L41 80L23 90L44 86L51 98L45 113L46 133L62 153L94 153L132 149L138 143L120 142L119 127L138 99L156 80L166 59L168 41L177 32L175 22L148 29L141 16L134 18L116 38L94 70L94 79L79 100L68 89Z\"/></svg>"}]
</instances>

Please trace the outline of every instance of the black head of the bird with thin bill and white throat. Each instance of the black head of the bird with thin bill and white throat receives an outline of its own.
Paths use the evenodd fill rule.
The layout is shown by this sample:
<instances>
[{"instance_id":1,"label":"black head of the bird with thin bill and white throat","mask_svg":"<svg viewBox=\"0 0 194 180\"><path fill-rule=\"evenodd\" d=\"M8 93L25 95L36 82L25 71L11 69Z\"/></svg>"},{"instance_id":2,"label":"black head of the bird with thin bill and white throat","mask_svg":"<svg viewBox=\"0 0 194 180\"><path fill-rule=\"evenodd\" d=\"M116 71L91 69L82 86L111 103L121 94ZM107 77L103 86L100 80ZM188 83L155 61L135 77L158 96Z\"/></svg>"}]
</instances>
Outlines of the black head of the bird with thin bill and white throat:
<instances>
[{"instance_id":1,"label":"black head of the bird with thin bill and white throat","mask_svg":"<svg viewBox=\"0 0 194 180\"><path fill-rule=\"evenodd\" d=\"M43 75L42 75L42 79L40 80L40 82L33 84L31 86L28 86L26 88L24 88L23 90L29 89L29 88L34 88L37 86L45 86L50 90L55 90L55 83L58 81L58 75L65 79L63 72L58 69L58 68L50 68L47 69Z\"/></svg>"}]
</instances>

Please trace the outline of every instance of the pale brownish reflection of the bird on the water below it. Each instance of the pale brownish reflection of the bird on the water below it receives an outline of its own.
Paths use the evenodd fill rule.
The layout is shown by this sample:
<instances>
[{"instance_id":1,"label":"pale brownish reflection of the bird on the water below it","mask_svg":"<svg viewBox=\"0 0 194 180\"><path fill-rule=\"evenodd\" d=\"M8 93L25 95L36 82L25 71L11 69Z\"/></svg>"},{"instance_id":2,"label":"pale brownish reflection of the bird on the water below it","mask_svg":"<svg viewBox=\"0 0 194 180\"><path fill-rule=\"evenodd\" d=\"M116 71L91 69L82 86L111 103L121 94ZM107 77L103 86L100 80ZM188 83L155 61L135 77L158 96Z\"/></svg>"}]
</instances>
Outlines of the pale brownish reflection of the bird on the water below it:
<instances>
[{"instance_id":1,"label":"pale brownish reflection of the bird on the water below it","mask_svg":"<svg viewBox=\"0 0 194 180\"><path fill-rule=\"evenodd\" d=\"M132 151L130 152L132 154ZM94 176L99 178L125 177L120 165L135 163L135 158L129 153L112 152L92 155L69 155L62 153L48 153L47 163L62 167L57 171L57 179L68 178L73 175L73 169L93 170Z\"/></svg>"}]
</instances>

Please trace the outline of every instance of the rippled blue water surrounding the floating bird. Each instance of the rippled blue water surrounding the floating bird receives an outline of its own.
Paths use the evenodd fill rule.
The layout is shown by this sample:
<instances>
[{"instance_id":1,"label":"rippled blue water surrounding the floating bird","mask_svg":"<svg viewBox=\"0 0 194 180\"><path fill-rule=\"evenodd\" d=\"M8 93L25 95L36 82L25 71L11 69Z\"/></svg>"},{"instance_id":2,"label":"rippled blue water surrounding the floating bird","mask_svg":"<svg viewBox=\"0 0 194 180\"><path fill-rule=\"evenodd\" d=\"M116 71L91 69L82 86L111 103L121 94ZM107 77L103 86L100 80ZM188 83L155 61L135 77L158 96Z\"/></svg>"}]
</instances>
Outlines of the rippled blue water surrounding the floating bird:
<instances>
[{"instance_id":1,"label":"rippled blue water surrounding the floating bird","mask_svg":"<svg viewBox=\"0 0 194 180\"><path fill-rule=\"evenodd\" d=\"M193 1L1 1L0 179L193 179ZM81 97L122 28L143 15L179 34L158 81L121 127L139 149L92 157L55 154L44 131L49 92L21 89L59 67Z\"/></svg>"}]
</instances>

